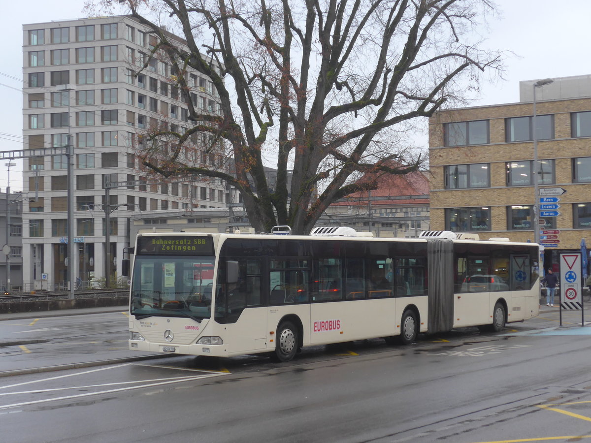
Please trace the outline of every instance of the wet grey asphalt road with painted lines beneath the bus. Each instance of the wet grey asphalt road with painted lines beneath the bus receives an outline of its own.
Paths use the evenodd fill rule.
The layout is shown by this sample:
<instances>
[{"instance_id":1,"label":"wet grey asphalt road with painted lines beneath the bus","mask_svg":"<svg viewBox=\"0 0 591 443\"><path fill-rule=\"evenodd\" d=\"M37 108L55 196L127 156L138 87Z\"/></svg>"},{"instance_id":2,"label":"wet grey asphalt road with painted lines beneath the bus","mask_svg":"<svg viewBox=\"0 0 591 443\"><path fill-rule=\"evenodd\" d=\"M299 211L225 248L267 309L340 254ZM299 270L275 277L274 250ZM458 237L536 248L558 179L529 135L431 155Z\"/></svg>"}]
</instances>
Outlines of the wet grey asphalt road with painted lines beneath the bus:
<instances>
[{"instance_id":1,"label":"wet grey asphalt road with painted lines beneath the bus","mask_svg":"<svg viewBox=\"0 0 591 443\"><path fill-rule=\"evenodd\" d=\"M0 347L0 372L70 365L0 377L1 441L591 441L591 327L564 314L562 328L543 307L499 334L314 347L288 364L126 361L121 311L0 318L0 342L47 340Z\"/></svg>"}]
</instances>

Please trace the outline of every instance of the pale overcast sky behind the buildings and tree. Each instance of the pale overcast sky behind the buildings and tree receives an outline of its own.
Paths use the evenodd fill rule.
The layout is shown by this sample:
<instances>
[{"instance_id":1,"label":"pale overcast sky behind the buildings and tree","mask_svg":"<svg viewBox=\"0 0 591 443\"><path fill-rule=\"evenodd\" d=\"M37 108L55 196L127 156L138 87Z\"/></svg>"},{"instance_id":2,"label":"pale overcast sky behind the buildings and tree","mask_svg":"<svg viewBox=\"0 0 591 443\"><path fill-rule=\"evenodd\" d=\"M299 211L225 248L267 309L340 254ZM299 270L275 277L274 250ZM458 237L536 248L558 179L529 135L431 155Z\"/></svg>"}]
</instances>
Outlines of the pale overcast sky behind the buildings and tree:
<instances>
[{"instance_id":1,"label":"pale overcast sky behind the buildings and tree","mask_svg":"<svg viewBox=\"0 0 591 443\"><path fill-rule=\"evenodd\" d=\"M492 19L485 45L512 51L505 80L484 84L471 105L519 101L519 81L591 74L589 0L496 0L502 17ZM59 7L56 7L59 5ZM5 1L2 7L0 65L0 151L22 149L22 25L85 17L83 0ZM485 33L486 35L486 33ZM427 148L426 137L418 136ZM7 161L0 162L0 188L7 185ZM22 190L22 162L11 167L12 191Z\"/></svg>"}]
</instances>

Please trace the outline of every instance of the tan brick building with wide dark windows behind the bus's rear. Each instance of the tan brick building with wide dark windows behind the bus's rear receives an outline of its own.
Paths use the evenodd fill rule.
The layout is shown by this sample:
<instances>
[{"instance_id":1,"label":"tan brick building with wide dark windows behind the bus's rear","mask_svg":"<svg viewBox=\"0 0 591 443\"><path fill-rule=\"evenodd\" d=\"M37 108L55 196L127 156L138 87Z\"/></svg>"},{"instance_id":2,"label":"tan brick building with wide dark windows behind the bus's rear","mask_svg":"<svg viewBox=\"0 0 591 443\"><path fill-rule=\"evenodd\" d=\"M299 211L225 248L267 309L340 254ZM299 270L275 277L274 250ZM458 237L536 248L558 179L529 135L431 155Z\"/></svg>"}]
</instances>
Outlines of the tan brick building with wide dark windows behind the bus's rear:
<instances>
[{"instance_id":1,"label":"tan brick building with wide dark windows behind the bus's rear","mask_svg":"<svg viewBox=\"0 0 591 443\"><path fill-rule=\"evenodd\" d=\"M538 86L537 128L534 83L520 82L519 103L431 117L431 229L534 241L535 129L538 187L553 194L538 220L548 269L557 251L591 240L591 76Z\"/></svg>"}]
</instances>

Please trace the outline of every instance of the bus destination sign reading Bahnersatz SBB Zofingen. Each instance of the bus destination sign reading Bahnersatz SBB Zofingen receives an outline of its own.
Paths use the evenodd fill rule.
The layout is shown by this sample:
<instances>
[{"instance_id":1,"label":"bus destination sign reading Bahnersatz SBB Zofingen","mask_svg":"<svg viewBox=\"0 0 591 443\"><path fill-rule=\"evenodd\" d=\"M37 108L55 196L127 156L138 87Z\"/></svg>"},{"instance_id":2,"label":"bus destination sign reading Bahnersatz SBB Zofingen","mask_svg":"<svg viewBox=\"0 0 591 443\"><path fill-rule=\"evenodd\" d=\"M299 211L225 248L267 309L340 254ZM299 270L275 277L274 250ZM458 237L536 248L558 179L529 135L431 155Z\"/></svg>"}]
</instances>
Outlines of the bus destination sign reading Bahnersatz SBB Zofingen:
<instances>
[{"instance_id":1,"label":"bus destination sign reading Bahnersatz SBB Zofingen","mask_svg":"<svg viewBox=\"0 0 591 443\"><path fill-rule=\"evenodd\" d=\"M213 238L203 236L138 237L138 255L213 255Z\"/></svg>"}]
</instances>

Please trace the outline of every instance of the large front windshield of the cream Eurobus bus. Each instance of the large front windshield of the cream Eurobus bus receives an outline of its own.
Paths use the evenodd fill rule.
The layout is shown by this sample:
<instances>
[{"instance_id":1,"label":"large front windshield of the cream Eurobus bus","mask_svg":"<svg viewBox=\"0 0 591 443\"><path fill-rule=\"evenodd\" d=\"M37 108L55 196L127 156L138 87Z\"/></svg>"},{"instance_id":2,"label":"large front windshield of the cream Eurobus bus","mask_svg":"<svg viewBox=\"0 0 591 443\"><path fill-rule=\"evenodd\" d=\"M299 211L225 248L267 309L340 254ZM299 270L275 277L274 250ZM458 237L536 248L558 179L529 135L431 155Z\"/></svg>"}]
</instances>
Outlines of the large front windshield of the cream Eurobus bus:
<instances>
[{"instance_id":1,"label":"large front windshield of the cream Eurobus bus","mask_svg":"<svg viewBox=\"0 0 591 443\"><path fill-rule=\"evenodd\" d=\"M136 256L131 315L145 318L211 317L213 257Z\"/></svg>"}]
</instances>

